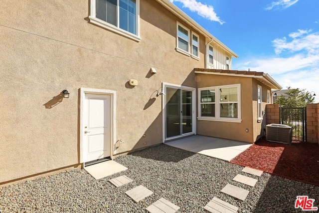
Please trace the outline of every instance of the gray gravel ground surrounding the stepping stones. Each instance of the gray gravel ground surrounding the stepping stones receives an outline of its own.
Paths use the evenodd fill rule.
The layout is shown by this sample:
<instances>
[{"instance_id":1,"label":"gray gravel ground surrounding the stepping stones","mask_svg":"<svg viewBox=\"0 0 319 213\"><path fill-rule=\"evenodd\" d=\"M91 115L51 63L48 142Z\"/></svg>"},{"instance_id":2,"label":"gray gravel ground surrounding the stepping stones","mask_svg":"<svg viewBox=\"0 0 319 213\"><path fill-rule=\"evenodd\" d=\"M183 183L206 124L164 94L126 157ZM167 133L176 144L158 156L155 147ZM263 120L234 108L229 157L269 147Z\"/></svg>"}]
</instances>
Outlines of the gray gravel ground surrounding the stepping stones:
<instances>
[{"instance_id":1,"label":"gray gravel ground surrounding the stepping stones","mask_svg":"<svg viewBox=\"0 0 319 213\"><path fill-rule=\"evenodd\" d=\"M127 171L95 180L85 170L73 170L0 189L0 213L11 212L107 212L138 213L161 197L180 207L178 212L202 213L217 197L239 208L241 213L291 213L296 196L308 195L319 206L319 187L264 173L256 177L243 167L166 145L151 147L115 159ZM318 168L317 168L318 169ZM232 179L242 174L257 178L255 187ZM133 183L114 187L109 180L126 175ZM311 174L309 174L311 175ZM219 191L228 183L250 193L245 201ZM125 192L143 185L154 192L134 203Z\"/></svg>"}]
</instances>

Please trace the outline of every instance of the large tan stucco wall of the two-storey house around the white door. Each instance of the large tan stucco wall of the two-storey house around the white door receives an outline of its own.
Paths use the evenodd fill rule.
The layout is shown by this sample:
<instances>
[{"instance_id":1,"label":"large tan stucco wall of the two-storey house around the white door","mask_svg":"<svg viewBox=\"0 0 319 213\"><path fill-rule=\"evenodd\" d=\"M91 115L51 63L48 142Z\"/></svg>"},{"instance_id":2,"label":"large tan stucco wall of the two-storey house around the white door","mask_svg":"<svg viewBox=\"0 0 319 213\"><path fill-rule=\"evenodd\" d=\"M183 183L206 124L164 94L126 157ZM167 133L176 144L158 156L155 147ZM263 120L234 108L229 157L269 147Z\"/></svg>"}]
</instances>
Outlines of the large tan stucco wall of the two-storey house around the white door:
<instances>
[{"instance_id":1,"label":"large tan stucco wall of the two-storey house around the white door","mask_svg":"<svg viewBox=\"0 0 319 213\"><path fill-rule=\"evenodd\" d=\"M155 0L141 0L140 42L89 23L88 1L4 0L0 12L0 183L80 163L81 87L117 92L117 153L161 143L156 91L195 87L205 65L204 36L200 60L176 52L178 19Z\"/></svg>"}]
</instances>

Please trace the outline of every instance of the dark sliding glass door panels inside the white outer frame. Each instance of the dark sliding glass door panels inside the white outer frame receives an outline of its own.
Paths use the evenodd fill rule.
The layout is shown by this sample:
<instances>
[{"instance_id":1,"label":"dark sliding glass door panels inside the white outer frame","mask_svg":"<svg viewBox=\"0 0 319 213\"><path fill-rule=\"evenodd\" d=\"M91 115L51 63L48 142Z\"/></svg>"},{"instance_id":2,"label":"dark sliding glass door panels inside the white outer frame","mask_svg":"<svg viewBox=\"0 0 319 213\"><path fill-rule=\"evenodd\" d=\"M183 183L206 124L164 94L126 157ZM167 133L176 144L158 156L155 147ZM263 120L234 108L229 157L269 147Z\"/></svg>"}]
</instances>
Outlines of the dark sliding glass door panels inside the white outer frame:
<instances>
[{"instance_id":1,"label":"dark sliding glass door panels inside the white outer frame","mask_svg":"<svg viewBox=\"0 0 319 213\"><path fill-rule=\"evenodd\" d=\"M193 132L192 91L166 87L165 138Z\"/></svg>"}]
</instances>

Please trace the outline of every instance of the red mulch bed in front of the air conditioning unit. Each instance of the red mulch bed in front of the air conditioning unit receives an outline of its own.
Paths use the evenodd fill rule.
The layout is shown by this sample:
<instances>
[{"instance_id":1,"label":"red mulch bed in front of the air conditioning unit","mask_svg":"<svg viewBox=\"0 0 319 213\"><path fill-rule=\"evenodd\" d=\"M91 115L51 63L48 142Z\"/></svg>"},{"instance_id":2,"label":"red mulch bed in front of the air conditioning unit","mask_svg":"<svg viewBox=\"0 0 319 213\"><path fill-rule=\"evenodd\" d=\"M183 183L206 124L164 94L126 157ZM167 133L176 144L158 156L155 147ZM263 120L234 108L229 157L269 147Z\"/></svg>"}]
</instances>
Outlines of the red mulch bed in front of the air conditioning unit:
<instances>
[{"instance_id":1,"label":"red mulch bed in front of the air conditioning unit","mask_svg":"<svg viewBox=\"0 0 319 213\"><path fill-rule=\"evenodd\" d=\"M288 145L262 139L230 163L319 186L318 144L293 141Z\"/></svg>"}]
</instances>

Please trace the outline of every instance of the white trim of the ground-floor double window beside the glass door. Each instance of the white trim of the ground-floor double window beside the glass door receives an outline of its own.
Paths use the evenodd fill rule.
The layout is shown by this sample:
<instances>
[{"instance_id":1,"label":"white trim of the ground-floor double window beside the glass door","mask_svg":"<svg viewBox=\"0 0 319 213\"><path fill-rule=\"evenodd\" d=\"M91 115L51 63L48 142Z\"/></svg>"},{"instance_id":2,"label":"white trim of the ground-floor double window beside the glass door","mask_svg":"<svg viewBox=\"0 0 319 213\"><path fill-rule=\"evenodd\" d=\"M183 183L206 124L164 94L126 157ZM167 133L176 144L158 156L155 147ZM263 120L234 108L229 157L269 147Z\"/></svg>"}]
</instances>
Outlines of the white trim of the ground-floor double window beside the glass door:
<instances>
[{"instance_id":1,"label":"white trim of the ground-floor double window beside the glass door","mask_svg":"<svg viewBox=\"0 0 319 213\"><path fill-rule=\"evenodd\" d=\"M238 93L238 118L221 118L220 117L220 102L219 102L219 89L222 88L228 88L228 87L237 87L237 93ZM206 117L206 116L201 116L201 107L200 107L200 91L201 90L207 90L207 89L215 89L215 116L216 117ZM222 85L222 86L211 86L211 87L202 87L198 88L198 120L203 120L203 121L221 121L221 122L233 122L233 123L241 123L241 85L240 84L231 84L231 85Z\"/></svg>"}]
</instances>

